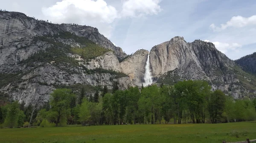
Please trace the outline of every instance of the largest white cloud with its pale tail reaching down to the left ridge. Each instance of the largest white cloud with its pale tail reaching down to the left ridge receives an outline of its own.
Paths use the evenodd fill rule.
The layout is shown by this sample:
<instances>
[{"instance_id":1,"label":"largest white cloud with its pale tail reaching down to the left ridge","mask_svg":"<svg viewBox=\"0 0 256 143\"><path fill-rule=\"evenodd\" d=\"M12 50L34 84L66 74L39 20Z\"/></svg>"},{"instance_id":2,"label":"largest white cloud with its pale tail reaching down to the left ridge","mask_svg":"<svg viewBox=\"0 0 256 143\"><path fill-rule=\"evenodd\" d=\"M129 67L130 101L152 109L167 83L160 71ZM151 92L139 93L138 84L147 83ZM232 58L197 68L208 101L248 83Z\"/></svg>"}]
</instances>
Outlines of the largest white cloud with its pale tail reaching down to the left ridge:
<instances>
[{"instance_id":1,"label":"largest white cloud with its pale tail reaching down to the left ridge","mask_svg":"<svg viewBox=\"0 0 256 143\"><path fill-rule=\"evenodd\" d=\"M48 8L42 8L46 19L57 23L76 23L90 25L110 38L111 23L118 17L116 8L104 0L62 0Z\"/></svg>"}]
</instances>

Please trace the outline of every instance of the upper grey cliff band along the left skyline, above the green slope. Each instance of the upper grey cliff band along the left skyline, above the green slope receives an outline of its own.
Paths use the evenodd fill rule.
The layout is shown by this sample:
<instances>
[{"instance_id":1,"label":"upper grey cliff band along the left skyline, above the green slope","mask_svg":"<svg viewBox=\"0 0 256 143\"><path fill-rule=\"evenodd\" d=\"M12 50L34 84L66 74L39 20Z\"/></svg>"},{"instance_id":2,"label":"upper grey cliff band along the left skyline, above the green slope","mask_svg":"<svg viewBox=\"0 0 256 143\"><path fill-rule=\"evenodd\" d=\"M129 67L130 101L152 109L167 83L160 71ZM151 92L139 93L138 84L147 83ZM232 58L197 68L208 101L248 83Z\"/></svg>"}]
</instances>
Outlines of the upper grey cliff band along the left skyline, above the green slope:
<instances>
[{"instance_id":1,"label":"upper grey cliff band along the left skyline, above the green slope","mask_svg":"<svg viewBox=\"0 0 256 143\"><path fill-rule=\"evenodd\" d=\"M19 12L0 13L0 45L8 46L9 43L26 41L29 42L35 36L46 36L70 32L77 36L90 39L97 45L114 51L119 59L126 56L122 49L99 33L97 28L70 24L52 24L35 20Z\"/></svg>"}]
</instances>

